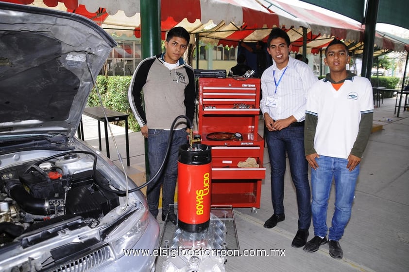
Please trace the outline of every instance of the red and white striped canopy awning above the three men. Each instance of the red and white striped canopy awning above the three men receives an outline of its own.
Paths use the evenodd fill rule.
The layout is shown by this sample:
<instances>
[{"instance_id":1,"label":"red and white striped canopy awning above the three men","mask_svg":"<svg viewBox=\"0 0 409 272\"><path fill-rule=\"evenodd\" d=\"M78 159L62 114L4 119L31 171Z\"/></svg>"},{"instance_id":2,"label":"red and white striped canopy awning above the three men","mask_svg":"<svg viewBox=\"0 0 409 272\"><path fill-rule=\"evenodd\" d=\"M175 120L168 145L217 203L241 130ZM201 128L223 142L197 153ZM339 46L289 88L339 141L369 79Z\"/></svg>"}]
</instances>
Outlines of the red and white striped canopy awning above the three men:
<instances>
[{"instance_id":1,"label":"red and white striped canopy awning above the three men","mask_svg":"<svg viewBox=\"0 0 409 272\"><path fill-rule=\"evenodd\" d=\"M96 21L105 29L125 31L140 37L139 0L6 0L68 10ZM267 41L272 27L286 29L294 52L302 50L303 28L307 29L307 54L316 54L334 38L356 46L363 42L360 23L333 18L278 0L161 0L162 39L174 26L183 26L204 43L237 46L239 40ZM358 46L359 47L359 46ZM375 48L409 51L409 45L375 35Z\"/></svg>"}]
</instances>

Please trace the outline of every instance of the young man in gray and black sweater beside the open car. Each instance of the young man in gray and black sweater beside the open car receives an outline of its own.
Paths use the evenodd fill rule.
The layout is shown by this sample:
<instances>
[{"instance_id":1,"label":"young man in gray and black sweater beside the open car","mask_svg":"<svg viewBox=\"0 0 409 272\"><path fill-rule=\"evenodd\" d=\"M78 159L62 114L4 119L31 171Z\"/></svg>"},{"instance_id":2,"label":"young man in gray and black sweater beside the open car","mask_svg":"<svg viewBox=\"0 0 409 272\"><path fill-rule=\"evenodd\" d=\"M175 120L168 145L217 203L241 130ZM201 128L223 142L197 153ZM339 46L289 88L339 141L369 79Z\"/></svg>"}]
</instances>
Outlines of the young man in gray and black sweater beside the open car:
<instances>
[{"instance_id":1,"label":"young man in gray and black sweater beside the open car","mask_svg":"<svg viewBox=\"0 0 409 272\"><path fill-rule=\"evenodd\" d=\"M174 119L185 115L193 121L196 98L194 71L182 58L189 39L190 36L183 27L172 28L165 41L166 52L142 60L129 86L129 104L142 135L148 139L151 175L159 170L165 157L170 126ZM174 203L178 150L180 145L187 144L189 128L186 127L186 120L180 119L175 124L165 169L147 186L149 210L155 218L159 213L160 187L163 186L162 220L168 215L168 221L173 224L177 222L171 204Z\"/></svg>"}]
</instances>

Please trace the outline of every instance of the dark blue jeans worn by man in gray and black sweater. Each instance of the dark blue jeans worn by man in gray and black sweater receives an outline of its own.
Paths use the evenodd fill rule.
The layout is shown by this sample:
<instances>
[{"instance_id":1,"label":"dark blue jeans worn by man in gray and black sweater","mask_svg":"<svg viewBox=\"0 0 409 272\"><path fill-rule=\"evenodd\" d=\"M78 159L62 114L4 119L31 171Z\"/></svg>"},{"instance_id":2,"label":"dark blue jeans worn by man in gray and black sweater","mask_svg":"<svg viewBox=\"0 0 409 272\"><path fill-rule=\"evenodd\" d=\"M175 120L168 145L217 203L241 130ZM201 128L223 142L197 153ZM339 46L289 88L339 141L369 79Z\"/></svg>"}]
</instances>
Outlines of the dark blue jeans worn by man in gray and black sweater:
<instances>
[{"instance_id":1,"label":"dark blue jeans worn by man in gray and black sweater","mask_svg":"<svg viewBox=\"0 0 409 272\"><path fill-rule=\"evenodd\" d=\"M160 165L165 158L166 147L168 145L170 130L148 129L148 160L150 177L153 177L159 170ZM146 198L148 200L149 211L156 218L158 215L160 187L162 186L162 214L166 215L168 211L173 211L175 187L177 180L177 162L179 155L179 146L187 144L187 135L185 129L173 131L172 144L168 161L164 164L162 173L148 184L146 188Z\"/></svg>"}]
</instances>

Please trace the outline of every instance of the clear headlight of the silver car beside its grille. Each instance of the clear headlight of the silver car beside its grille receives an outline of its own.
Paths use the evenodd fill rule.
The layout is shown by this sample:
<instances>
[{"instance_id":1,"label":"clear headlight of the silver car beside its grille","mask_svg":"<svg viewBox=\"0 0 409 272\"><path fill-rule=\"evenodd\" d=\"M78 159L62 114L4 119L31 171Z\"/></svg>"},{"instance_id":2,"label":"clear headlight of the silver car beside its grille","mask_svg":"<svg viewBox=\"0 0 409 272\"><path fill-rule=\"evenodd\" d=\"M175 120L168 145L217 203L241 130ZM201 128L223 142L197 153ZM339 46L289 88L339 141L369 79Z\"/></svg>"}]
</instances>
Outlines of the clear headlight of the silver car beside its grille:
<instances>
[{"instance_id":1,"label":"clear headlight of the silver car beside its grille","mask_svg":"<svg viewBox=\"0 0 409 272\"><path fill-rule=\"evenodd\" d=\"M124 254L125 249L134 247L148 226L148 211L141 207L142 209L121 222L106 238L117 259Z\"/></svg>"}]
</instances>

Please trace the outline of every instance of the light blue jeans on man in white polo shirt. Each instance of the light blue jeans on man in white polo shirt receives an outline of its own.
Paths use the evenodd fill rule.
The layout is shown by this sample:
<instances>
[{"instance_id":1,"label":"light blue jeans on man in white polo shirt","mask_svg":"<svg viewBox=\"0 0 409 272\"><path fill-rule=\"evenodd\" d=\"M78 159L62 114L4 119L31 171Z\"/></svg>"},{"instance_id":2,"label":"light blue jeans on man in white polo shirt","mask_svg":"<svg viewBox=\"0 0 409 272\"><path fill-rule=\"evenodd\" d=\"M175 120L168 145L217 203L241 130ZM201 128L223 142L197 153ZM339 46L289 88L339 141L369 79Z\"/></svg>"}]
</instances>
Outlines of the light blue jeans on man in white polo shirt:
<instances>
[{"instance_id":1,"label":"light blue jeans on man in white polo shirt","mask_svg":"<svg viewBox=\"0 0 409 272\"><path fill-rule=\"evenodd\" d=\"M318 168L316 170L311 169L311 206L314 235L324 237L327 233L326 214L332 179L334 179L335 212L332 216L328 238L338 241L341 239L345 226L351 217L359 164L353 171L349 171L346 168L347 159L320 155L319 158L315 158L315 161L318 163Z\"/></svg>"}]
</instances>

